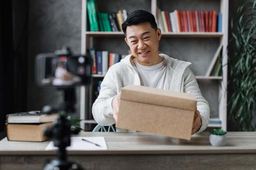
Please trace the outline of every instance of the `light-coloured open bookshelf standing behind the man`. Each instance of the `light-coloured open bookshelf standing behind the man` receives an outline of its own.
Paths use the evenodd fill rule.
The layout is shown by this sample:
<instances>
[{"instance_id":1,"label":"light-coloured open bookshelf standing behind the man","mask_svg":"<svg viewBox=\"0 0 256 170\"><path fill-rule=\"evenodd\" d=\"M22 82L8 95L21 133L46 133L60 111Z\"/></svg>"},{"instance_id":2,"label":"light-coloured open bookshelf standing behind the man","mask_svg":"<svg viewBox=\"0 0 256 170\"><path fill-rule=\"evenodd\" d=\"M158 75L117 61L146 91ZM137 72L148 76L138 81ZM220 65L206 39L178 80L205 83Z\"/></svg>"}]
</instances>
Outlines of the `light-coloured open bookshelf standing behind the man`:
<instances>
[{"instance_id":1,"label":"light-coloured open bookshelf standing behind the man","mask_svg":"<svg viewBox=\"0 0 256 170\"><path fill-rule=\"evenodd\" d=\"M124 35L121 31L92 32L87 30L87 0L82 0L82 36L81 53L85 53L89 48L96 50L106 50L115 53L127 54L129 47L124 42ZM209 127L222 128L227 130L227 43L228 43L228 9L229 0L95 0L98 10L101 12L113 12L126 9L128 13L144 9L151 11L156 16L157 7L164 11L174 10L216 10L222 13L222 32L162 32L162 39L159 49L167 55L179 60L189 61L194 72L202 95L207 99L211 108L211 118ZM136 5L135 5L136 4ZM184 5L187 4L187 5ZM222 76L204 76L207 66L211 62L214 52L222 44ZM116 48L118 47L118 48ZM177 57L176 57L177 56ZM81 87L81 127L85 123L95 123L90 120L91 108L95 96L93 91L98 80L102 80L104 75L92 75L92 84Z\"/></svg>"}]
</instances>

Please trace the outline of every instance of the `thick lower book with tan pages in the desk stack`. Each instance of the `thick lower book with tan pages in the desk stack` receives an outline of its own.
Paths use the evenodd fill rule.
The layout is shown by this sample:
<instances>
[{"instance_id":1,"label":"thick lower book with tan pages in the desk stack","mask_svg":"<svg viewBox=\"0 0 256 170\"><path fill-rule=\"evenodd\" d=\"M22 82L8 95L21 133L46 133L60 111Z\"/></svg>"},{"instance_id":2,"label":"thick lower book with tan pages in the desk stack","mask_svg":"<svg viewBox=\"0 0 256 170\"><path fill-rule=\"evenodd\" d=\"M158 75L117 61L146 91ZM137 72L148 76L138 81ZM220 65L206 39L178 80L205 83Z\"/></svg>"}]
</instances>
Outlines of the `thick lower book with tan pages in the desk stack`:
<instances>
[{"instance_id":1,"label":"thick lower book with tan pages in the desk stack","mask_svg":"<svg viewBox=\"0 0 256 170\"><path fill-rule=\"evenodd\" d=\"M9 124L6 125L6 136L9 141L45 141L45 128L52 122L43 124Z\"/></svg>"}]
</instances>

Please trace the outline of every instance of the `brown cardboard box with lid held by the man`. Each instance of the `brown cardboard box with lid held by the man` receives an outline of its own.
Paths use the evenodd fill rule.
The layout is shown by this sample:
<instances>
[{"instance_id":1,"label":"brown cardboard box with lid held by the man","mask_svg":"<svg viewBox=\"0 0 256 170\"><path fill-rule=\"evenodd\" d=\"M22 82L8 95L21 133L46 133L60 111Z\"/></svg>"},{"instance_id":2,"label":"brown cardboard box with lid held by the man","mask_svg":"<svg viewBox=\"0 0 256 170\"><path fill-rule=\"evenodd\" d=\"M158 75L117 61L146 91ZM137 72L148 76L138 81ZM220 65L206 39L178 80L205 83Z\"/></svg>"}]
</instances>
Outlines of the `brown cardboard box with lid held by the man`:
<instances>
[{"instance_id":1,"label":"brown cardboard box with lid held by the man","mask_svg":"<svg viewBox=\"0 0 256 170\"><path fill-rule=\"evenodd\" d=\"M191 138L195 96L145 86L121 89L117 128Z\"/></svg>"}]
</instances>

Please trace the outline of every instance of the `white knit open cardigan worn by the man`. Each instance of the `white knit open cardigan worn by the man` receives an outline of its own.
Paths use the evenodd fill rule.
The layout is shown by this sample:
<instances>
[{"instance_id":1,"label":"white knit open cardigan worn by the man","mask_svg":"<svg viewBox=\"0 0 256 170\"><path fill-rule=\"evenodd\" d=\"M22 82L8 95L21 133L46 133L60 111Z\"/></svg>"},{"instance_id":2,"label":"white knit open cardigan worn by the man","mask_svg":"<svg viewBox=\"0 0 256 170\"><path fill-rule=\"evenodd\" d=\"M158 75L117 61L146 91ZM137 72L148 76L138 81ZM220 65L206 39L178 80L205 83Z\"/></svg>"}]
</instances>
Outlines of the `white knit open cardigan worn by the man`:
<instances>
[{"instance_id":1,"label":"white knit open cardigan worn by the man","mask_svg":"<svg viewBox=\"0 0 256 170\"><path fill-rule=\"evenodd\" d=\"M166 89L184 93L191 93L197 99L197 109L200 112L202 126L198 132L202 132L209 124L210 108L204 99L195 79L195 75L188 67L191 63L173 59L165 54L160 54L167 61ZM115 123L112 115L112 99L121 88L130 84L141 85L137 68L133 63L135 57L127 55L121 62L114 64L108 69L101 83L99 96L92 105L92 115L101 126L109 126ZM128 130L118 129L117 132Z\"/></svg>"}]
</instances>

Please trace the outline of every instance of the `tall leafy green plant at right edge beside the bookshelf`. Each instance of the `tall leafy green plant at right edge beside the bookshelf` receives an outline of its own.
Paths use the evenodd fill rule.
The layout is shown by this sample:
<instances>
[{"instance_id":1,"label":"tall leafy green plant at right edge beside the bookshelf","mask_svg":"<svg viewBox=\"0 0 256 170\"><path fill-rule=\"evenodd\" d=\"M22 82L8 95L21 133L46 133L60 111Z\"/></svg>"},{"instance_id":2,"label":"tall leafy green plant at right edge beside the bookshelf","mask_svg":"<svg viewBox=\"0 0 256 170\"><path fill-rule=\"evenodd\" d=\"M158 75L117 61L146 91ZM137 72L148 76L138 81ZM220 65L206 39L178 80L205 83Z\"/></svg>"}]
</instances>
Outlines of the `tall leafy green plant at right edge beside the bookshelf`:
<instances>
[{"instance_id":1,"label":"tall leafy green plant at right edge beside the bookshelf","mask_svg":"<svg viewBox=\"0 0 256 170\"><path fill-rule=\"evenodd\" d=\"M229 56L230 83L234 88L228 106L229 119L240 131L255 131L256 113L256 0L237 9L237 22L231 20L235 53Z\"/></svg>"}]
</instances>

